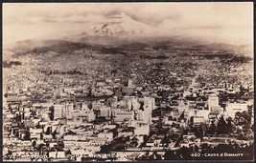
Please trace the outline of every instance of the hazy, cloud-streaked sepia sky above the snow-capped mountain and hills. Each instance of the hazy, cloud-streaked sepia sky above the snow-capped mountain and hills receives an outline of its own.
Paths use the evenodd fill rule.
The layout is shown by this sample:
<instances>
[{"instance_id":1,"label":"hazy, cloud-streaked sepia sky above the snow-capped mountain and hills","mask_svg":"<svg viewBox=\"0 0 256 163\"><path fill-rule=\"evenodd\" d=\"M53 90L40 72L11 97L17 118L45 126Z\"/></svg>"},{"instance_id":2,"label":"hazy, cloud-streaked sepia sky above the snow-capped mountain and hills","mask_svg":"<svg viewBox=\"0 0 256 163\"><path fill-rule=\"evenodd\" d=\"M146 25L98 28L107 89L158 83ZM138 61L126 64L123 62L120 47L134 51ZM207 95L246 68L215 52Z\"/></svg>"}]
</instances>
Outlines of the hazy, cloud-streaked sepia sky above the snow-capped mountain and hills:
<instances>
[{"instance_id":1,"label":"hazy, cloud-streaked sepia sky above the snow-capped mountain and hills","mask_svg":"<svg viewBox=\"0 0 256 163\"><path fill-rule=\"evenodd\" d=\"M183 37L236 45L253 41L252 2L4 3L4 44L81 33L120 12Z\"/></svg>"}]
</instances>

